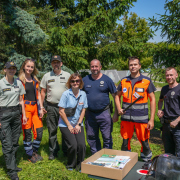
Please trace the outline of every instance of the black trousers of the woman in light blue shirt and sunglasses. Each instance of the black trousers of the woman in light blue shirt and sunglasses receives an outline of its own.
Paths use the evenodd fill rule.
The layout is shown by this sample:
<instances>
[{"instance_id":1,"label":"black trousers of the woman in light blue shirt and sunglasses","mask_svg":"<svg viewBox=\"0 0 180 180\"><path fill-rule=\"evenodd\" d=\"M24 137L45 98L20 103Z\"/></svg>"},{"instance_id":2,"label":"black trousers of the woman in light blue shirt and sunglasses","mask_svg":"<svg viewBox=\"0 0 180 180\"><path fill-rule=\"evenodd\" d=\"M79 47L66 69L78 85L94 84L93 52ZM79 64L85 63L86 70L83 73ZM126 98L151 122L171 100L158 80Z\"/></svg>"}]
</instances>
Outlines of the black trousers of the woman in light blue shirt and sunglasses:
<instances>
[{"instance_id":1,"label":"black trousers of the woman in light blue shirt and sunglasses","mask_svg":"<svg viewBox=\"0 0 180 180\"><path fill-rule=\"evenodd\" d=\"M81 162L84 161L86 153L86 143L84 137L84 128L81 127L81 132L72 134L67 127L60 127L64 141L68 147L67 155L68 162L67 168L81 169ZM77 156L77 160L76 160Z\"/></svg>"}]
</instances>

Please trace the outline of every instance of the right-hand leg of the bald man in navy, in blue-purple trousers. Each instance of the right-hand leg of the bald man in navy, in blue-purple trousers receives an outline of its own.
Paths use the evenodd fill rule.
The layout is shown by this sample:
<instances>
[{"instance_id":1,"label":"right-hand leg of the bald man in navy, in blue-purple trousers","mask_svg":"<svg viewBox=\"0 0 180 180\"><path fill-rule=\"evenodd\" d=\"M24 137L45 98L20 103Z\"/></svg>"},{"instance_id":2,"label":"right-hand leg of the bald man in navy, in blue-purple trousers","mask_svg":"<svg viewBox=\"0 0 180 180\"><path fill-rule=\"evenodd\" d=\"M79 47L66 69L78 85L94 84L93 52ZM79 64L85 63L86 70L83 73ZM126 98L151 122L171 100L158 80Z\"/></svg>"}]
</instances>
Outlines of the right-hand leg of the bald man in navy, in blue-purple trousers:
<instances>
[{"instance_id":1,"label":"right-hand leg of the bald man in navy, in blue-purple trousers","mask_svg":"<svg viewBox=\"0 0 180 180\"><path fill-rule=\"evenodd\" d=\"M99 125L102 138L103 138L103 148L112 149L112 129L113 122L109 114L109 110L105 110L96 116L96 121Z\"/></svg>"}]
</instances>

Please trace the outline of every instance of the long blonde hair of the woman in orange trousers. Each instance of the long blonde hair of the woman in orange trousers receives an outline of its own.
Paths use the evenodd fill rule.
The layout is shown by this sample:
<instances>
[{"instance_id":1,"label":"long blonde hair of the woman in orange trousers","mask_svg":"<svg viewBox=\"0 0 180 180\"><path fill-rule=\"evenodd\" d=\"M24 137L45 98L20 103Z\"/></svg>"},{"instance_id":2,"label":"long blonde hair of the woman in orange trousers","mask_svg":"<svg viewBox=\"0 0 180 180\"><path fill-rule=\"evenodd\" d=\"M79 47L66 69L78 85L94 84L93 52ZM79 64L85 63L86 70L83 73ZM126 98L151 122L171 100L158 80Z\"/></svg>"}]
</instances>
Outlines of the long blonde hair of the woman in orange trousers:
<instances>
[{"instance_id":1,"label":"long blonde hair of the woman in orange trousers","mask_svg":"<svg viewBox=\"0 0 180 180\"><path fill-rule=\"evenodd\" d=\"M33 76L33 78L34 78L38 83L40 83L40 81L38 80L38 78L37 78L37 76L36 76L39 72L38 72L38 70L37 70L37 68L36 68L35 60L33 60L33 59L26 59L26 60L23 62L22 66L21 66L21 68L20 68L20 70L19 70L19 79L20 79L24 84L26 84L24 67L25 67L25 65L26 65L28 62L33 62L33 63L34 63L34 70L33 70L33 72L32 72L32 76Z\"/></svg>"}]
</instances>

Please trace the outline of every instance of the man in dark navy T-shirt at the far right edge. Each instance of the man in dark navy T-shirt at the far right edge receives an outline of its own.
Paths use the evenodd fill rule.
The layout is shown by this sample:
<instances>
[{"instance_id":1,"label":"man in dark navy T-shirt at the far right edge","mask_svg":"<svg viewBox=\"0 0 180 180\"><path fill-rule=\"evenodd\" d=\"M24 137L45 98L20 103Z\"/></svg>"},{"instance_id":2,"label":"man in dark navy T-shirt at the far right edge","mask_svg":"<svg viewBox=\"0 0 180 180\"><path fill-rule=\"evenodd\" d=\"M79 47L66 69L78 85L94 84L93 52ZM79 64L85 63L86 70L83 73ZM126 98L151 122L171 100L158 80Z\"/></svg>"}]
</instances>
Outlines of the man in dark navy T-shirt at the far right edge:
<instances>
[{"instance_id":1,"label":"man in dark navy T-shirt at the far right edge","mask_svg":"<svg viewBox=\"0 0 180 180\"><path fill-rule=\"evenodd\" d=\"M158 117L163 118L162 140L165 153L180 157L180 84L176 81L177 71L173 67L166 69L168 85L161 90L158 102ZM164 110L162 105L164 101Z\"/></svg>"}]
</instances>

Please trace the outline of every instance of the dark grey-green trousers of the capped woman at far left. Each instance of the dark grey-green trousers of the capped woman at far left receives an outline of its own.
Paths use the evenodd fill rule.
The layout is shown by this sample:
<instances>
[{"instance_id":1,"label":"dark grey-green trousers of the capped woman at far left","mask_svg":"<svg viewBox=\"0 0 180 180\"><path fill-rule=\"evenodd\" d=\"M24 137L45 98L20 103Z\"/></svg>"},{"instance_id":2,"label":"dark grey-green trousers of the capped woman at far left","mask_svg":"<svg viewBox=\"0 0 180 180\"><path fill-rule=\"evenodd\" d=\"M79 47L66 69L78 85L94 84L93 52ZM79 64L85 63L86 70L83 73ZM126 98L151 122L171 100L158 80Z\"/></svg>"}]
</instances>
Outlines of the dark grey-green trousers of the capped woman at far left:
<instances>
[{"instance_id":1,"label":"dark grey-green trousers of the capped woman at far left","mask_svg":"<svg viewBox=\"0 0 180 180\"><path fill-rule=\"evenodd\" d=\"M8 175L17 173L15 154L18 150L19 136L21 134L21 119L19 110L13 112L0 112L0 140L4 154Z\"/></svg>"}]
</instances>

